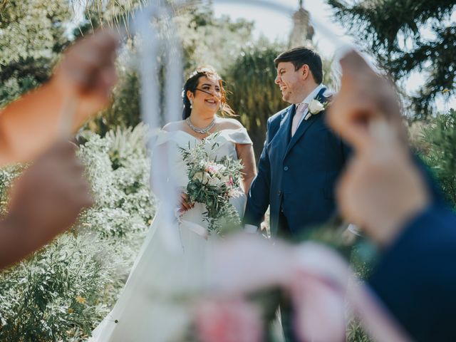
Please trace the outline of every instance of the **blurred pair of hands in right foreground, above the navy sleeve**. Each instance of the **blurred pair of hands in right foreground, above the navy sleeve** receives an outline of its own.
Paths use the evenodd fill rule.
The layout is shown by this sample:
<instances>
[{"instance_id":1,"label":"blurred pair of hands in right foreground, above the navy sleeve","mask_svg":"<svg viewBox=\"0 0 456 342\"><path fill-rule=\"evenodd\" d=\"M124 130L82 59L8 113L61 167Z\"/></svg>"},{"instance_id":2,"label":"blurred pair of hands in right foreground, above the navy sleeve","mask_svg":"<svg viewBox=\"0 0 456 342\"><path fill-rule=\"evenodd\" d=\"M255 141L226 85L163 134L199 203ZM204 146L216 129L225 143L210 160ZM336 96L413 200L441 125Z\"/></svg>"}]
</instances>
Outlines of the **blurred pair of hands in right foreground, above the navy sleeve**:
<instances>
[{"instance_id":1,"label":"blurred pair of hands in right foreground, above the navy sleeve","mask_svg":"<svg viewBox=\"0 0 456 342\"><path fill-rule=\"evenodd\" d=\"M386 246L430 199L411 159L393 88L358 53L348 53L341 66L341 91L328 119L355 154L338 184L338 206Z\"/></svg>"}]
</instances>

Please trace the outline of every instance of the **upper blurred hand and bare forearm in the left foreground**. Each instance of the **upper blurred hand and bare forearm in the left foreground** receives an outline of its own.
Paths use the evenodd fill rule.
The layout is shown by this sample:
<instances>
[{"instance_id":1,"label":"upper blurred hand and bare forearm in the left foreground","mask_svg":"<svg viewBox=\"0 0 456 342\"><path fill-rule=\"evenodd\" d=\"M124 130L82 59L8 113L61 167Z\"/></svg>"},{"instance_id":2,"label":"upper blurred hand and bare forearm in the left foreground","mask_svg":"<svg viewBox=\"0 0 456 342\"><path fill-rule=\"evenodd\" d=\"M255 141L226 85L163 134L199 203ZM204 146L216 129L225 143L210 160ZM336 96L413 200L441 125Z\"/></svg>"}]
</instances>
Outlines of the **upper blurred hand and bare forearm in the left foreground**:
<instances>
[{"instance_id":1,"label":"upper blurred hand and bare forearm in the left foreground","mask_svg":"<svg viewBox=\"0 0 456 342\"><path fill-rule=\"evenodd\" d=\"M48 83L0 110L0 165L33 160L108 105L118 43L110 30L76 41Z\"/></svg>"}]
</instances>

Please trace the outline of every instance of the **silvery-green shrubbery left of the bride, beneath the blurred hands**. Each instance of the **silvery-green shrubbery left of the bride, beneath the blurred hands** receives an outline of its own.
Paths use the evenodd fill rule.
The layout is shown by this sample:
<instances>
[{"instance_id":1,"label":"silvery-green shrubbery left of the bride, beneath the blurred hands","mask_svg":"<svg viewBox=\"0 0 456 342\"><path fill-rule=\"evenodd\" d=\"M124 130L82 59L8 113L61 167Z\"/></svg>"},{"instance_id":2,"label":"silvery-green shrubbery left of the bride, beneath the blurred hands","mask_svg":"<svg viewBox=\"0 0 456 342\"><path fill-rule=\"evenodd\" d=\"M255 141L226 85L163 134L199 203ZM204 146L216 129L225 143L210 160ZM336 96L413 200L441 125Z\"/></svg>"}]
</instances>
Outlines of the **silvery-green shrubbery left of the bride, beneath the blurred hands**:
<instances>
[{"instance_id":1,"label":"silvery-green shrubbery left of the bride, beneath the blurred hands","mask_svg":"<svg viewBox=\"0 0 456 342\"><path fill-rule=\"evenodd\" d=\"M95 197L71 231L0 273L0 341L85 341L110 311L155 212L143 125L86 133ZM82 138L81 138L82 139ZM0 170L1 208L21 167Z\"/></svg>"}]
</instances>

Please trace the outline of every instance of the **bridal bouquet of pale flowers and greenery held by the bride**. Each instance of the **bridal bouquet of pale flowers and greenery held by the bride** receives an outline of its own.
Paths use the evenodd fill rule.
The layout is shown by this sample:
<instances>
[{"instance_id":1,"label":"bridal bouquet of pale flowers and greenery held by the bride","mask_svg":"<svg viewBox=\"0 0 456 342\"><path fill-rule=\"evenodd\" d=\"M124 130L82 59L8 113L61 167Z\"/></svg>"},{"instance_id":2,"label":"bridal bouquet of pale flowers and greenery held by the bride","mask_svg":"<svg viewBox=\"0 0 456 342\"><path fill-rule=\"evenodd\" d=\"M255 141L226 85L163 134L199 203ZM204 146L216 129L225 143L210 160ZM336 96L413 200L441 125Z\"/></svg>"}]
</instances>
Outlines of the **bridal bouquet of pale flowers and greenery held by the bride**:
<instances>
[{"instance_id":1,"label":"bridal bouquet of pale flowers and greenery held by the bride","mask_svg":"<svg viewBox=\"0 0 456 342\"><path fill-rule=\"evenodd\" d=\"M181 150L188 170L188 199L192 203L206 204L204 219L209 222L209 233L219 234L224 227L240 224L239 214L229 199L241 194L239 182L243 166L239 160L230 157L211 160L207 152L211 140L206 139L195 147L189 143ZM211 150L215 147L217 142L212 144Z\"/></svg>"}]
</instances>

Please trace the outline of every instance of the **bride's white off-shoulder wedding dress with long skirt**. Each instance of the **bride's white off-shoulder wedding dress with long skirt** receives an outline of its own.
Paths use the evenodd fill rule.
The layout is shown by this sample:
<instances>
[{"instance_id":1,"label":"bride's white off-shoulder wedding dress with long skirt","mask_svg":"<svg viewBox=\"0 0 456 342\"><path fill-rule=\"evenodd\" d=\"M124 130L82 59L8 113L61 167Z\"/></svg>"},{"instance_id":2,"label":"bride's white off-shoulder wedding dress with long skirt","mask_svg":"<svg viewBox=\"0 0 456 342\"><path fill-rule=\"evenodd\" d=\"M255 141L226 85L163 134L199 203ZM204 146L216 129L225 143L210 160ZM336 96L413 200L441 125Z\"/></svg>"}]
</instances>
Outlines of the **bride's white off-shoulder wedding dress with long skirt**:
<instances>
[{"instance_id":1,"label":"bride's white off-shoulder wedding dress with long skirt","mask_svg":"<svg viewBox=\"0 0 456 342\"><path fill-rule=\"evenodd\" d=\"M189 143L194 146L201 141L182 130L160 131L157 137L155 147L167 144L179 187L185 188L188 182L179 147L188 148ZM237 159L236 144L252 144L244 128L222 130L205 141L210 142L207 143L209 156L217 160L224 156ZM214 142L217 145L212 149ZM244 192L230 201L242 217L247 201ZM183 334L191 323L192 309L185 304L188 300L182 298L190 298L201 284L206 256L212 241L217 239L199 233L207 228L203 212L204 204L197 203L182 215L178 228L182 248L176 252L167 248L161 238L160 229L170 227L162 224L163 214L158 208L120 298L89 341L188 341Z\"/></svg>"}]
</instances>

